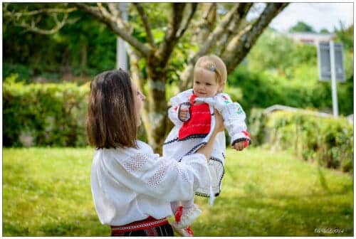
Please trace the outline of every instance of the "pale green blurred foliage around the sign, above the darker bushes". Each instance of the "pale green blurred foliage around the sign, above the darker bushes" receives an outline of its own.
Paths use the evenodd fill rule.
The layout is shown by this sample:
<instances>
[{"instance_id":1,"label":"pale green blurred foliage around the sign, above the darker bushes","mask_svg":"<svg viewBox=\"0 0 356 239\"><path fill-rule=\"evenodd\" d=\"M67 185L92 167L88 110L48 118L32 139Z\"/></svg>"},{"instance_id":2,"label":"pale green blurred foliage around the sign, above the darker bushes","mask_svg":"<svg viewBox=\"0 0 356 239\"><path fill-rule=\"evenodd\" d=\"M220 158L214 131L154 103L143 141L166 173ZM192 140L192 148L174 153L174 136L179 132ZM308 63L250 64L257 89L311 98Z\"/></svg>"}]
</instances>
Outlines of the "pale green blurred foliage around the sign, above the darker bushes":
<instances>
[{"instance_id":1,"label":"pale green blurred foliage around the sign, above the darker bushes","mask_svg":"<svg viewBox=\"0 0 356 239\"><path fill-rule=\"evenodd\" d=\"M353 78L353 26L335 32L337 39L345 47L346 79ZM267 71L278 74L280 78L309 83L318 80L317 48L293 41L281 33L268 29L263 32L256 45L247 57L248 69L251 71ZM313 75L300 79L295 73L308 70Z\"/></svg>"}]
</instances>

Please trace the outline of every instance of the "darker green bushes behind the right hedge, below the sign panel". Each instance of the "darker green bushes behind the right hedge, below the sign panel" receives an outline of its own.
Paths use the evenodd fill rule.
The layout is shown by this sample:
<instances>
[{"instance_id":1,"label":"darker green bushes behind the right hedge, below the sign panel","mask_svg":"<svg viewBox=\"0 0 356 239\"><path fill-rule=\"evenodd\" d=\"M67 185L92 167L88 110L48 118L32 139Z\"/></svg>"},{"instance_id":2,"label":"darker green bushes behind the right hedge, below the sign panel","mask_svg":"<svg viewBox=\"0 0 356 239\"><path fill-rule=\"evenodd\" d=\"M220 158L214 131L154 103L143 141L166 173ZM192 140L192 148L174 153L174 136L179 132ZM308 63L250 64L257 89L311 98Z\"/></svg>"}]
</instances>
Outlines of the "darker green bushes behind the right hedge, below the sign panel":
<instances>
[{"instance_id":1,"label":"darker green bushes behind the right hedge, below the sign panel","mask_svg":"<svg viewBox=\"0 0 356 239\"><path fill-rule=\"evenodd\" d=\"M295 75L300 75L300 79L305 81L287 80L274 73L251 71L241 65L229 75L226 92L241 104L248 115L253 107L266 108L276 104L331 112L333 103L330 83L316 79L310 81L308 75L314 74L305 66L304 71L295 70ZM340 114L352 114L353 78L338 84L337 94Z\"/></svg>"}]
</instances>

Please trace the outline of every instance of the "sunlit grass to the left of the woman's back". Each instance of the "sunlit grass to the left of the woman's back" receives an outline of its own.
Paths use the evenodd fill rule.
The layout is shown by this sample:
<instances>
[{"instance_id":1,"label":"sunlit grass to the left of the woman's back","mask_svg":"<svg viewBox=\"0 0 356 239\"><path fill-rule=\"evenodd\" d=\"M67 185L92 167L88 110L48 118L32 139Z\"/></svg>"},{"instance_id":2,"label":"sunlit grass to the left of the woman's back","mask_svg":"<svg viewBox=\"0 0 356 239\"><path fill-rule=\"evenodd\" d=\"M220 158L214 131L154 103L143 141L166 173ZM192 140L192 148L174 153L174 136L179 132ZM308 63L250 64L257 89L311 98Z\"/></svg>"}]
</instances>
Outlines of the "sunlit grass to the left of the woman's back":
<instances>
[{"instance_id":1,"label":"sunlit grass to the left of the woman's back","mask_svg":"<svg viewBox=\"0 0 356 239\"><path fill-rule=\"evenodd\" d=\"M108 235L90 192L92 149L4 149L3 235Z\"/></svg>"}]
</instances>

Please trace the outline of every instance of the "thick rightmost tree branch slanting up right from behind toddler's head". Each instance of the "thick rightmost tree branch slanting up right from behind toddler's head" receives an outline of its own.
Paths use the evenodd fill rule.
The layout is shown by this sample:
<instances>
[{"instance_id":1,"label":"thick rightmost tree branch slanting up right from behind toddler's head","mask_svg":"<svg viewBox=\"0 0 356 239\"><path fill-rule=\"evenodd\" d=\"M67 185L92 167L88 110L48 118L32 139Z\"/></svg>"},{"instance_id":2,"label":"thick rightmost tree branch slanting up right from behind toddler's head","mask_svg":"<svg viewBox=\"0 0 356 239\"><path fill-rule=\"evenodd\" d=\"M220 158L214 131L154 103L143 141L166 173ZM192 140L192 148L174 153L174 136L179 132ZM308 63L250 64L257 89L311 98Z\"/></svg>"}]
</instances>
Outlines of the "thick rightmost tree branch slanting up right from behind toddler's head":
<instances>
[{"instance_id":1,"label":"thick rightmost tree branch slanting up right from behind toddler's head","mask_svg":"<svg viewBox=\"0 0 356 239\"><path fill-rule=\"evenodd\" d=\"M244 31L241 31L238 36L229 41L226 51L221 55L222 60L226 63L228 73L234 70L236 65L245 58L264 28L286 6L288 6L288 3L268 3L262 14L252 25L244 28Z\"/></svg>"}]
</instances>

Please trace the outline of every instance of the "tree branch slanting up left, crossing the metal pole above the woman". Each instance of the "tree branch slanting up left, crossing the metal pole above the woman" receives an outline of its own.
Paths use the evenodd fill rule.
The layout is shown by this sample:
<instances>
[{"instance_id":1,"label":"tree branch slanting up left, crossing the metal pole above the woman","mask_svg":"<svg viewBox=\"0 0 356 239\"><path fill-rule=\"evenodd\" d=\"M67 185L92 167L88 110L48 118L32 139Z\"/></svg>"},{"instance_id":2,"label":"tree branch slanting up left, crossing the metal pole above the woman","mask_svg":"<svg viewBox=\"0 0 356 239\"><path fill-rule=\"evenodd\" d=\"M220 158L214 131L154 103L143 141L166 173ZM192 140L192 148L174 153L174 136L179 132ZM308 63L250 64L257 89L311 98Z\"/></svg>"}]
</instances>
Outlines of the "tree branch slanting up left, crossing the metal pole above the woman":
<instances>
[{"instance_id":1,"label":"tree branch slanting up left, crossing the metal pole above the woman","mask_svg":"<svg viewBox=\"0 0 356 239\"><path fill-rule=\"evenodd\" d=\"M120 36L124 41L129 43L133 48L135 48L140 54L144 57L147 57L148 55L151 55L153 49L151 47L145 46L145 44L141 43L140 41L137 41L136 38L132 37L130 34L127 33L127 29L122 28L119 26L117 21L114 19L110 18L110 14L105 14L105 11L101 9L99 10L98 7L93 7L93 6L88 6L87 4L81 4L81 3L73 3L75 6L78 6L78 9L95 16L99 21L105 23L107 26L109 26L112 31L114 31L118 36ZM106 11L108 12L108 11ZM121 19L122 21L122 19Z\"/></svg>"}]
</instances>

